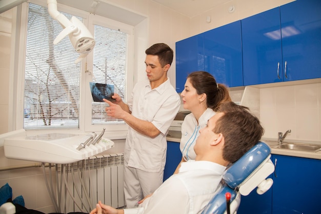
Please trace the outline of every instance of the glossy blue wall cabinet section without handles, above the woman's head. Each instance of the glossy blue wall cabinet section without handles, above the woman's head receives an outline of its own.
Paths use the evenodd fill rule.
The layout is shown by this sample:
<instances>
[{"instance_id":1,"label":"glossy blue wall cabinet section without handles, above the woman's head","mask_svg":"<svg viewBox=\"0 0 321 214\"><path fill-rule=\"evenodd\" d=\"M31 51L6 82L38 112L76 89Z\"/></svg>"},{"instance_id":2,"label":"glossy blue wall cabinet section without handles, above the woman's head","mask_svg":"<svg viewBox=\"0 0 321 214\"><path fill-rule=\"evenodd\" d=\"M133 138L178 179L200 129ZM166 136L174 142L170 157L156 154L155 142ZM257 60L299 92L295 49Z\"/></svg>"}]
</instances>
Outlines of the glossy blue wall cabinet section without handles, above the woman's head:
<instances>
[{"instance_id":1,"label":"glossy blue wall cabinet section without handles, above the woman's head","mask_svg":"<svg viewBox=\"0 0 321 214\"><path fill-rule=\"evenodd\" d=\"M243 85L240 21L176 42L176 91L182 92L189 73L205 70L217 83Z\"/></svg>"}]
</instances>

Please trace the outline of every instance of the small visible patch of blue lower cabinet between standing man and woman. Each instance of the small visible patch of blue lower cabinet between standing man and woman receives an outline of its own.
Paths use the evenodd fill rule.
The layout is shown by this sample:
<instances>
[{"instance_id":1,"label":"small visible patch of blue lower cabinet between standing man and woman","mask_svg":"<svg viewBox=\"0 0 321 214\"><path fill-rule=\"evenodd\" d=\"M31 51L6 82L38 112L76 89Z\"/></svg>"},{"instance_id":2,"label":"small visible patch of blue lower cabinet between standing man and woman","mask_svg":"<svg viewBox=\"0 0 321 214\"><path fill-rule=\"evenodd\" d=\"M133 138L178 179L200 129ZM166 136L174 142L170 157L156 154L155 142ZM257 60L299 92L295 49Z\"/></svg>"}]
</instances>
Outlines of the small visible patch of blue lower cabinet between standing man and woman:
<instances>
[{"instance_id":1,"label":"small visible patch of blue lower cabinet between standing man and woman","mask_svg":"<svg viewBox=\"0 0 321 214\"><path fill-rule=\"evenodd\" d=\"M164 181L171 177L177 165L182 160L179 143L167 141L166 164L164 169Z\"/></svg>"}]
</instances>

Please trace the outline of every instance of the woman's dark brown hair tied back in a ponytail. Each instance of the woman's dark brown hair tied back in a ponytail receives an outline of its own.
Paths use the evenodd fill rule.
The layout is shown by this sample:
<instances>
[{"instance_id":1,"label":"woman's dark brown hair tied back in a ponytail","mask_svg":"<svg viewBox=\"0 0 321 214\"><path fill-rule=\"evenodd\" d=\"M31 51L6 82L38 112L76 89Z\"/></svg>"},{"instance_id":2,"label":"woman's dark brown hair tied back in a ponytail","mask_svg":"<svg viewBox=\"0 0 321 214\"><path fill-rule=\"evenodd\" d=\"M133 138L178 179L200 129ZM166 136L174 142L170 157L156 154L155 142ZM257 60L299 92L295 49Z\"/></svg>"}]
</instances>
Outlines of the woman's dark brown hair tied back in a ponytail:
<instances>
[{"instance_id":1,"label":"woman's dark brown hair tied back in a ponytail","mask_svg":"<svg viewBox=\"0 0 321 214\"><path fill-rule=\"evenodd\" d=\"M224 84L217 84L214 76L206 71L195 71L187 76L197 94L205 93L207 107L217 111L223 102L232 101L229 89Z\"/></svg>"}]
</instances>

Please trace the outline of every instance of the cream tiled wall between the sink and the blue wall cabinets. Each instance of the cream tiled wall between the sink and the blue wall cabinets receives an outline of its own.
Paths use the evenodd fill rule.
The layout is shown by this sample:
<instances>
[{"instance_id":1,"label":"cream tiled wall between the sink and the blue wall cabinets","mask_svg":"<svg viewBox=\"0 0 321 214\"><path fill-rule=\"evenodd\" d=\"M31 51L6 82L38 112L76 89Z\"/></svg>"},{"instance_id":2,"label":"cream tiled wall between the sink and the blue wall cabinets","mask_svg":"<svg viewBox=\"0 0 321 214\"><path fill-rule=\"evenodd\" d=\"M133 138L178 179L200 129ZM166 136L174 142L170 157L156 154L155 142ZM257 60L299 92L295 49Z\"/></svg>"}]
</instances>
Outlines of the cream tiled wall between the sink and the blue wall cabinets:
<instances>
[{"instance_id":1,"label":"cream tiled wall between the sink and the blue wall cabinets","mask_svg":"<svg viewBox=\"0 0 321 214\"><path fill-rule=\"evenodd\" d=\"M287 139L321 142L321 83L260 89L266 138L291 129Z\"/></svg>"}]
</instances>

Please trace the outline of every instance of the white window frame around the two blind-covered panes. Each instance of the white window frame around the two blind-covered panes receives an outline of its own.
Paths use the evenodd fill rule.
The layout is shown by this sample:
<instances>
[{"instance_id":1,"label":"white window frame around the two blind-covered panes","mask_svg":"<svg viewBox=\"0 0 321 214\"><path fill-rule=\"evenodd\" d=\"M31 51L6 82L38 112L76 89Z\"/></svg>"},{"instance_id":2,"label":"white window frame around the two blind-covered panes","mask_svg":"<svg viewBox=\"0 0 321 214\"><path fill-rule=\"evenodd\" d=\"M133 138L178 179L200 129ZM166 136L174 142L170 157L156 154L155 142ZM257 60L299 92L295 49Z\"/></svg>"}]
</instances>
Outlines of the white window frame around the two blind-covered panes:
<instances>
[{"instance_id":1,"label":"white window frame around the two blind-covered panes","mask_svg":"<svg viewBox=\"0 0 321 214\"><path fill-rule=\"evenodd\" d=\"M21 17L17 18L17 35L16 38L16 53L15 53L15 66L14 68L14 96L16 98L13 100L13 120L15 123L15 130L23 129L24 127L24 82L25 82L25 62L26 62L26 46L27 46L27 22L28 22L28 12L29 12L29 2L41 6L47 7L46 2L40 0L30 0L22 4L21 7ZM124 29L123 32L128 33L128 66L127 66L127 99L130 97L131 91L133 89L134 81L134 26L130 26L124 23L120 23L109 18L91 14L86 11L78 10L66 5L57 4L58 11L66 12L75 16L83 17L84 24L88 27L89 31L94 34L94 25L100 25L103 27L108 27L111 29ZM79 101L79 128L53 128L53 129L33 129L26 130L28 133L39 133L39 132L72 132L72 133L83 133L83 132L100 132L105 128L105 133L111 136L111 139L124 139L126 137L128 126L125 123L122 124L91 124L91 102L92 97L90 93L89 82L92 82L92 67L93 67L93 52L89 53L81 62L81 87L80 87L80 101ZM15 93L16 92L16 93Z\"/></svg>"}]
</instances>

